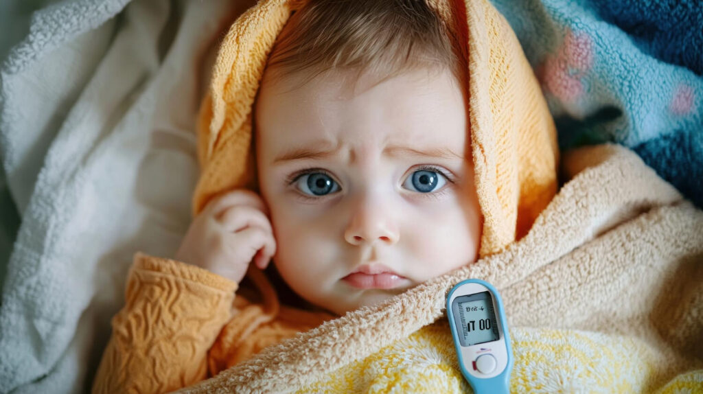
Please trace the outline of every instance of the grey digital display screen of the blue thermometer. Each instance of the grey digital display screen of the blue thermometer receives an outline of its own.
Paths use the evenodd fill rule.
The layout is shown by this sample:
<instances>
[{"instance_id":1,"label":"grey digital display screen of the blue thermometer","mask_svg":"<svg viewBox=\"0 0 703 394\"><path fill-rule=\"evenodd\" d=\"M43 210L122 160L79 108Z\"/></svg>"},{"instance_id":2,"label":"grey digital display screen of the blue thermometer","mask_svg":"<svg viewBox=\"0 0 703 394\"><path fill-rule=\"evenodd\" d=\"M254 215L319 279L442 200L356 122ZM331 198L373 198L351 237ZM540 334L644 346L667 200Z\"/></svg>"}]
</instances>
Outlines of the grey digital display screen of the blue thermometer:
<instances>
[{"instance_id":1,"label":"grey digital display screen of the blue thermometer","mask_svg":"<svg viewBox=\"0 0 703 394\"><path fill-rule=\"evenodd\" d=\"M488 291L456 297L451 307L461 346L498 341L496 310Z\"/></svg>"}]
</instances>

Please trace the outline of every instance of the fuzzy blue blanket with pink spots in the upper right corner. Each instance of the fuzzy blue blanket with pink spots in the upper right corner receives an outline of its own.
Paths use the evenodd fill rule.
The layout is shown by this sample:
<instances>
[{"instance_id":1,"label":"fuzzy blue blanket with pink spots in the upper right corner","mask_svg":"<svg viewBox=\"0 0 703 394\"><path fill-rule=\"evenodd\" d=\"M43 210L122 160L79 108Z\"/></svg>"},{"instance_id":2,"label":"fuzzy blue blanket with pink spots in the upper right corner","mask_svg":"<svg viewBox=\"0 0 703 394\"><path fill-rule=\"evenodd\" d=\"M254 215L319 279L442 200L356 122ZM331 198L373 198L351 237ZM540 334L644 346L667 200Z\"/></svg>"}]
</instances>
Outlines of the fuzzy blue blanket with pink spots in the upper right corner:
<instances>
[{"instance_id":1,"label":"fuzzy blue blanket with pink spots in the upper right corner","mask_svg":"<svg viewBox=\"0 0 703 394\"><path fill-rule=\"evenodd\" d=\"M537 70L562 148L621 143L703 207L703 1L492 2Z\"/></svg>"}]
</instances>

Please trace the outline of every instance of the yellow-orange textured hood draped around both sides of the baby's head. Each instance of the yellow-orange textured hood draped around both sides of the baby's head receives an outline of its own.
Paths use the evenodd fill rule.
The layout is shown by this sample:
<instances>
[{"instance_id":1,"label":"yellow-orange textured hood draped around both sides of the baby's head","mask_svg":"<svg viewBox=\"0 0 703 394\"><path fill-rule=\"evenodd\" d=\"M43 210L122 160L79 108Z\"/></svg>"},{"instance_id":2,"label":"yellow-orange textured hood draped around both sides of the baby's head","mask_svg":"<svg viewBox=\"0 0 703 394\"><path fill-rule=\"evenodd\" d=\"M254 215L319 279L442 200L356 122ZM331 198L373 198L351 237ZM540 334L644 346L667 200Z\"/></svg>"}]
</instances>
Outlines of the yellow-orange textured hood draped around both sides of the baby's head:
<instances>
[{"instance_id":1,"label":"yellow-orange textured hood draped around both sides of the baby's head","mask_svg":"<svg viewBox=\"0 0 703 394\"><path fill-rule=\"evenodd\" d=\"M486 256L524 235L553 197L555 129L520 44L495 8L485 1L430 3L467 39L468 123L484 216L479 254ZM277 35L303 4L260 1L224 38L202 105L195 213L221 192L252 187L254 98Z\"/></svg>"}]
</instances>

